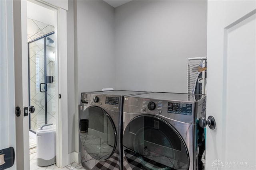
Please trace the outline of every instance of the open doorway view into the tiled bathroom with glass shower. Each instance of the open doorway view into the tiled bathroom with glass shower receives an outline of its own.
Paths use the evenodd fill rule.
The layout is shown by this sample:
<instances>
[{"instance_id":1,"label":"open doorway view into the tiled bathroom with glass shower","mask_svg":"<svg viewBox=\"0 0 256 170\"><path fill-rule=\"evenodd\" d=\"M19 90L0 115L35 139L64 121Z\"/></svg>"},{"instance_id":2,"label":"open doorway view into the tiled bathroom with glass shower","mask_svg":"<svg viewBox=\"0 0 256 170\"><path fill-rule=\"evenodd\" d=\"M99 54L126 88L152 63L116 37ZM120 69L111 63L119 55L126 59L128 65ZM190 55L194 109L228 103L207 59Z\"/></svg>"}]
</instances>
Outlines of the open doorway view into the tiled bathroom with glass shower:
<instances>
[{"instance_id":1,"label":"open doorway view into the tiled bathroom with glass shower","mask_svg":"<svg viewBox=\"0 0 256 170\"><path fill-rule=\"evenodd\" d=\"M42 125L56 125L58 61L56 9L27 1L28 104L30 167L36 165L36 131Z\"/></svg>"}]
</instances>

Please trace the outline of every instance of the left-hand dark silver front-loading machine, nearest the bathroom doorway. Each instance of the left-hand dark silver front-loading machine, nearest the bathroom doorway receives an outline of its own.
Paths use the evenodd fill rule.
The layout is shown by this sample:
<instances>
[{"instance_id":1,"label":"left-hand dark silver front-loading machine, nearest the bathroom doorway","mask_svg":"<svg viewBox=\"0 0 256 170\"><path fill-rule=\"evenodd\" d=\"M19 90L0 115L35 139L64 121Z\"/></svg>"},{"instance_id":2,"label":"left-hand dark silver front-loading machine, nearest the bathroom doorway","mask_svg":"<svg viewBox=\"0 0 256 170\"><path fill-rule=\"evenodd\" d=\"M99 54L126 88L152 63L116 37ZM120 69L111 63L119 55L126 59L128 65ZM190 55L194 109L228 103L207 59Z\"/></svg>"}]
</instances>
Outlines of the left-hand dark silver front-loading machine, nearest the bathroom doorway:
<instances>
[{"instance_id":1,"label":"left-hand dark silver front-loading machine, nearest the bathroom doorway","mask_svg":"<svg viewBox=\"0 0 256 170\"><path fill-rule=\"evenodd\" d=\"M79 131L81 162L84 168L122 169L119 150L122 139L120 126L123 99L124 95L138 93L144 92L112 90L81 93L82 113L79 120L83 119L88 123L84 125L86 129Z\"/></svg>"}]
</instances>

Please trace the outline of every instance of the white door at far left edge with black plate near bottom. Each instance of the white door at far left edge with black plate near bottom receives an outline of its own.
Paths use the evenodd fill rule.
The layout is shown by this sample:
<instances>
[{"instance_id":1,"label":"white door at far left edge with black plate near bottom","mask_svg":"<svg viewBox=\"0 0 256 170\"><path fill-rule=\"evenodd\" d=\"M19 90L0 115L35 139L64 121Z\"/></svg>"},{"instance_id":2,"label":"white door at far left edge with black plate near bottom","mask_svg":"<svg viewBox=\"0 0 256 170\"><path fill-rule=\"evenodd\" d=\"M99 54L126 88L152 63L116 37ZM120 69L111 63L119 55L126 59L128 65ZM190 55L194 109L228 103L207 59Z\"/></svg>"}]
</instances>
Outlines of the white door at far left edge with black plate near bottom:
<instances>
[{"instance_id":1,"label":"white door at far left edge with black plate near bottom","mask_svg":"<svg viewBox=\"0 0 256 170\"><path fill-rule=\"evenodd\" d=\"M16 169L12 1L0 1L0 166ZM14 160L14 162L13 162Z\"/></svg>"}]
</instances>

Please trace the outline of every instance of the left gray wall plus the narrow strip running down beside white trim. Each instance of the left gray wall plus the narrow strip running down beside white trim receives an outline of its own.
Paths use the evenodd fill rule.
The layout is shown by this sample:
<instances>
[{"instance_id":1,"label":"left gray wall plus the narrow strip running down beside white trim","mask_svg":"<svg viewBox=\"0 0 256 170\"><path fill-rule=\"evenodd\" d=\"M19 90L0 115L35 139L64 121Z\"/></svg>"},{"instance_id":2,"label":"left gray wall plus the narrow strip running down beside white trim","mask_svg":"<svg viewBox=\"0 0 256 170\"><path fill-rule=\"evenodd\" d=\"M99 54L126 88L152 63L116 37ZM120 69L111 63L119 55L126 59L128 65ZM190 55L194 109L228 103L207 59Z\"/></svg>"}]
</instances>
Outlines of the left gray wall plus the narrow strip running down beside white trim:
<instances>
[{"instance_id":1,"label":"left gray wall plus the narrow strip running down beside white trim","mask_svg":"<svg viewBox=\"0 0 256 170\"><path fill-rule=\"evenodd\" d=\"M74 3L73 3L74 2ZM69 1L69 12L74 22L74 102L75 115L69 115L68 152L79 152L78 148L78 105L81 92L102 90L115 83L114 58L114 8L104 1ZM72 7L74 5L74 7ZM72 9L74 12L72 12ZM68 14L72 18L72 14ZM68 27L69 28L69 27ZM70 27L70 34L72 28ZM70 35L70 37L72 37ZM68 49L70 51L71 49ZM72 56L72 55L71 55ZM70 57L70 56L68 56ZM68 64L73 64L72 61ZM72 76L72 75L70 75ZM71 98L72 100L73 98ZM69 113L73 113L69 111Z\"/></svg>"}]
</instances>

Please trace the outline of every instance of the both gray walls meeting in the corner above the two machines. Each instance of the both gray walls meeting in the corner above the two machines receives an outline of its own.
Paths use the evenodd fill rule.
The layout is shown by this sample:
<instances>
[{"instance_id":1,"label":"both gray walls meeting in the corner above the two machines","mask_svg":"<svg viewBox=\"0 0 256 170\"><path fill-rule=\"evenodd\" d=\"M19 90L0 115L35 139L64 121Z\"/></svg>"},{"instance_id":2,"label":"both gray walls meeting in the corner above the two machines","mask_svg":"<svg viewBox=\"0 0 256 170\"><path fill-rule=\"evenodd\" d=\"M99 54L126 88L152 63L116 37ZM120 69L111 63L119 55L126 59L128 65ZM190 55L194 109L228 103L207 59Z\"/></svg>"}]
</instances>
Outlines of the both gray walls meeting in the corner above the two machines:
<instances>
[{"instance_id":1,"label":"both gray walls meeting in the corner above the two machines","mask_svg":"<svg viewBox=\"0 0 256 170\"><path fill-rule=\"evenodd\" d=\"M131 1L118 8L104 1L74 1L73 14L68 25L74 24L75 97L71 91L69 102L75 99L75 115L69 110L69 128L78 128L81 92L110 87L186 92L186 60L206 56L206 1ZM72 34L71 26L68 30ZM76 128L68 132L69 153L74 143L78 151Z\"/></svg>"}]
</instances>

